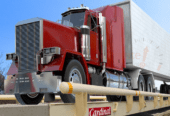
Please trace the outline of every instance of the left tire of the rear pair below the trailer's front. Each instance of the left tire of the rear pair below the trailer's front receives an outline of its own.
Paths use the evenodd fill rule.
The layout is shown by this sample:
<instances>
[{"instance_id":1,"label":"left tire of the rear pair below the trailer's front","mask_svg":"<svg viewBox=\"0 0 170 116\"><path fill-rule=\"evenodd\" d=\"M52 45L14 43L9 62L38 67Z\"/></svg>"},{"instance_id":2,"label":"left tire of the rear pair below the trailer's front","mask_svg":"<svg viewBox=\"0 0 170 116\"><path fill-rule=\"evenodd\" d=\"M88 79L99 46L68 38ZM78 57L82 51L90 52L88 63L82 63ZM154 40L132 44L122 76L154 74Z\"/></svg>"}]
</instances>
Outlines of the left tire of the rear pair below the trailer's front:
<instances>
[{"instance_id":1,"label":"left tire of the rear pair below the trailer's front","mask_svg":"<svg viewBox=\"0 0 170 116\"><path fill-rule=\"evenodd\" d=\"M142 75L139 75L139 78L138 78L138 90L139 91L146 91L145 79ZM138 101L139 96L133 96L133 100Z\"/></svg>"}]
</instances>

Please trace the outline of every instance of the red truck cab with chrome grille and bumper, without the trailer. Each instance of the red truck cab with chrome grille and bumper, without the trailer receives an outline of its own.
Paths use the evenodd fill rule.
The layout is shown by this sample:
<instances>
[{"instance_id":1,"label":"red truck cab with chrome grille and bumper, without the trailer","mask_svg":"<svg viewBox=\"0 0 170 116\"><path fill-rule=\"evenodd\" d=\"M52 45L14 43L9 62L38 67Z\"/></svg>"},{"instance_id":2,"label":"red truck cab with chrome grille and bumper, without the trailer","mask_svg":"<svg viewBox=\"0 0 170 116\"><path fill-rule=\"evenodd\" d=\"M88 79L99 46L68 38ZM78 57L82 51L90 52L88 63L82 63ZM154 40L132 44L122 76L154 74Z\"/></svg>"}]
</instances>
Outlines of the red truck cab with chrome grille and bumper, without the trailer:
<instances>
[{"instance_id":1,"label":"red truck cab with chrome grille and bumper, without the trailer","mask_svg":"<svg viewBox=\"0 0 170 116\"><path fill-rule=\"evenodd\" d=\"M65 103L74 103L74 94L60 92L62 81L130 87L123 72L124 22L118 6L69 8L61 24L42 18L18 22L16 51L7 54L11 59L18 68L14 93L21 104L38 104L44 95L45 101L54 101L56 94Z\"/></svg>"}]
</instances>

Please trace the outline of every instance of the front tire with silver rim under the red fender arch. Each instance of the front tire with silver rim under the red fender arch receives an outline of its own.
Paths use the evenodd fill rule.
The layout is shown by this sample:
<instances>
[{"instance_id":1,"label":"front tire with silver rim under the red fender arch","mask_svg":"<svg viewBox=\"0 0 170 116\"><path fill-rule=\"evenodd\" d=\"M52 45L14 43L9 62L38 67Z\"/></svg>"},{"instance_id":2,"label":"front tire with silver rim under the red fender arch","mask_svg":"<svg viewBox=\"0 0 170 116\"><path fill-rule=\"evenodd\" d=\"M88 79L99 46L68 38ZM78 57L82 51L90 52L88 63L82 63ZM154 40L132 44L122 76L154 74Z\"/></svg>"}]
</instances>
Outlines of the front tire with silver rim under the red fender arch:
<instances>
[{"instance_id":1,"label":"front tire with silver rim under the red fender arch","mask_svg":"<svg viewBox=\"0 0 170 116\"><path fill-rule=\"evenodd\" d=\"M72 75L72 76L71 76ZM78 60L71 60L66 66L63 81L86 84L86 74L84 68ZM62 94L60 97L64 103L75 103L74 94ZM87 96L89 100L89 95Z\"/></svg>"}]
</instances>

